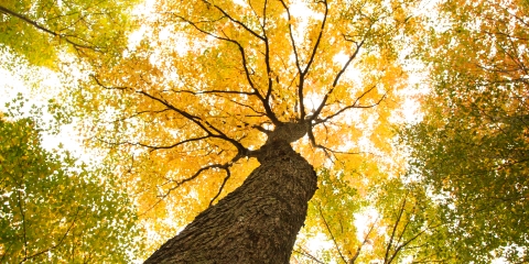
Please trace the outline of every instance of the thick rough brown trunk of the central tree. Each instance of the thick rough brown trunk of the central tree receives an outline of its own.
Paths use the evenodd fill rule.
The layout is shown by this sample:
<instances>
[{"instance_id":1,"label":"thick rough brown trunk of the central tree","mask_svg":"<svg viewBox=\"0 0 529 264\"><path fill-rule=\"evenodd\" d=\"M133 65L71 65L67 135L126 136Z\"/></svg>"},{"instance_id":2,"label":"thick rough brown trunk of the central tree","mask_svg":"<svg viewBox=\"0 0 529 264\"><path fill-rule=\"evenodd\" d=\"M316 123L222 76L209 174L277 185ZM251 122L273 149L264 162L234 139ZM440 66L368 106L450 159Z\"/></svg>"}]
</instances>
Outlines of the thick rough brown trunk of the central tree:
<instances>
[{"instance_id":1,"label":"thick rough brown trunk of the central tree","mask_svg":"<svg viewBox=\"0 0 529 264\"><path fill-rule=\"evenodd\" d=\"M313 167L285 141L267 143L245 183L145 263L289 263L316 190Z\"/></svg>"}]
</instances>

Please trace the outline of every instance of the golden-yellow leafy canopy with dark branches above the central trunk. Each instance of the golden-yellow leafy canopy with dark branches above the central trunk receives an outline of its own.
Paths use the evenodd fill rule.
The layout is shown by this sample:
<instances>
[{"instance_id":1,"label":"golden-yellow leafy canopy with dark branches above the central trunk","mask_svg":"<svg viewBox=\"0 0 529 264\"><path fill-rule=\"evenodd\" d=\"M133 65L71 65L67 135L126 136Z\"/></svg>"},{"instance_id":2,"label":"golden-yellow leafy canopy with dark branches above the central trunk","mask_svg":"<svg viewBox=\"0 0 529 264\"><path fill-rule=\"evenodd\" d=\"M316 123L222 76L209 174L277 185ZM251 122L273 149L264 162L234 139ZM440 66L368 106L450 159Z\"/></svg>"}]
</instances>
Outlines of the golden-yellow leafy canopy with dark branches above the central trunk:
<instances>
[{"instance_id":1,"label":"golden-yellow leafy canopy with dark branches above the central trunk","mask_svg":"<svg viewBox=\"0 0 529 264\"><path fill-rule=\"evenodd\" d=\"M309 125L296 147L315 166L354 167L357 138L384 142L406 84L395 36L413 24L410 4L155 2L79 102L107 123L99 143L134 164L140 211L162 221L182 205L165 212L182 226L240 185L272 130Z\"/></svg>"}]
</instances>

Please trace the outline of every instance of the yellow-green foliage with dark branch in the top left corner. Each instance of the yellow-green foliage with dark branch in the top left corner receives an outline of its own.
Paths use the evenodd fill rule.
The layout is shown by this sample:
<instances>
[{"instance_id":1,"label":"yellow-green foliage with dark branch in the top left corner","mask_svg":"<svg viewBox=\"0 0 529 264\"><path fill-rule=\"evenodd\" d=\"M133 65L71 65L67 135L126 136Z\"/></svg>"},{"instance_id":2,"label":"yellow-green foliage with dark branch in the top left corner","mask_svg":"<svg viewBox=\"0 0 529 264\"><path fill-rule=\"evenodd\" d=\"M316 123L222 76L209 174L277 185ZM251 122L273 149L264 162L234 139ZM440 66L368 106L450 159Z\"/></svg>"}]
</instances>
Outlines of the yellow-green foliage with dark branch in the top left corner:
<instances>
[{"instance_id":1,"label":"yellow-green foliage with dark branch in the top left corner","mask_svg":"<svg viewBox=\"0 0 529 264\"><path fill-rule=\"evenodd\" d=\"M53 68L62 52L105 62L119 58L127 44L122 42L130 21L127 11L133 3L1 1L0 48Z\"/></svg>"}]
</instances>

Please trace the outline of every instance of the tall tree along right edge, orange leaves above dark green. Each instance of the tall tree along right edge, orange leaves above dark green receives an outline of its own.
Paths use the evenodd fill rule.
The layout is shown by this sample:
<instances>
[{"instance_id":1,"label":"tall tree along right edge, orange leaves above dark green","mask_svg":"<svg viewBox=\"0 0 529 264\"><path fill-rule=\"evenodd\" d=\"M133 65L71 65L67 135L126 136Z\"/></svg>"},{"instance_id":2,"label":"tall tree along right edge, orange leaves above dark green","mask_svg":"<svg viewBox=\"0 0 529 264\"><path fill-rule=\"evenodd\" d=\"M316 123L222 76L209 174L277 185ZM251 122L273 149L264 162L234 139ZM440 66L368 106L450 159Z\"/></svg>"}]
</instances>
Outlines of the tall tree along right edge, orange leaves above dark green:
<instances>
[{"instance_id":1,"label":"tall tree along right edge, orange leaves above dark green","mask_svg":"<svg viewBox=\"0 0 529 264\"><path fill-rule=\"evenodd\" d=\"M447 1L424 57L432 94L403 132L412 168L442 197L462 261L527 262L527 1ZM424 46L423 46L424 47Z\"/></svg>"}]
</instances>

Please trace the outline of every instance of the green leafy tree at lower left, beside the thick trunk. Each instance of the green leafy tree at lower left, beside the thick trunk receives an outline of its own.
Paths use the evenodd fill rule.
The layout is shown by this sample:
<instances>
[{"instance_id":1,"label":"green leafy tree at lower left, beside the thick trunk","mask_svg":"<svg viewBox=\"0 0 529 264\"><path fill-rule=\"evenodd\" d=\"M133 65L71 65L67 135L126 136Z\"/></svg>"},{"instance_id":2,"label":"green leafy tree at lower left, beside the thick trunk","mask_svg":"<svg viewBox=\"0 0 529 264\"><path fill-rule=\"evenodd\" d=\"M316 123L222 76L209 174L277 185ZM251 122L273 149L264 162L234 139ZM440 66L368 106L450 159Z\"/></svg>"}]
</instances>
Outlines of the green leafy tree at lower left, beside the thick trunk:
<instances>
[{"instance_id":1,"label":"green leafy tree at lower left, beside the thick trunk","mask_svg":"<svg viewBox=\"0 0 529 264\"><path fill-rule=\"evenodd\" d=\"M117 175L44 150L40 130L32 118L0 119L0 262L130 262L139 229Z\"/></svg>"}]
</instances>

